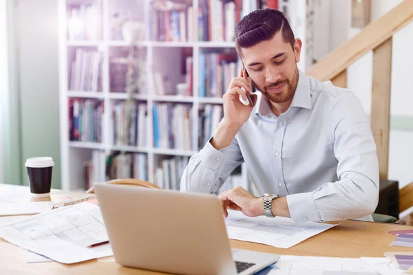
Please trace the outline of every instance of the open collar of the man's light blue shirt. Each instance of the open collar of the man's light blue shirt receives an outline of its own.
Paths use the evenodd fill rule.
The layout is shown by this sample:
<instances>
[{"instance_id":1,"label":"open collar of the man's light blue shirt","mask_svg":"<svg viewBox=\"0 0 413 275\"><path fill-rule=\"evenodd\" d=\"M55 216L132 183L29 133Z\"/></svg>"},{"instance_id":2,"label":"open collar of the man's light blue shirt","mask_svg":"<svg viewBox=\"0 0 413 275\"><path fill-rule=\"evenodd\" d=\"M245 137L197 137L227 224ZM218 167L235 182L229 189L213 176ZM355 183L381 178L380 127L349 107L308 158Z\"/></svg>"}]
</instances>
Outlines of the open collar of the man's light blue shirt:
<instances>
[{"instance_id":1,"label":"open collar of the man's light blue shirt","mask_svg":"<svg viewBox=\"0 0 413 275\"><path fill-rule=\"evenodd\" d=\"M308 76L304 74L304 72L301 72L300 69L298 69L298 72L298 84L297 88L295 89L295 94L290 107L312 109L313 104L311 102L310 96L310 80L308 79ZM267 118L274 115L273 111L271 111L269 100L261 93L257 99L257 109L255 111L255 114Z\"/></svg>"}]
</instances>

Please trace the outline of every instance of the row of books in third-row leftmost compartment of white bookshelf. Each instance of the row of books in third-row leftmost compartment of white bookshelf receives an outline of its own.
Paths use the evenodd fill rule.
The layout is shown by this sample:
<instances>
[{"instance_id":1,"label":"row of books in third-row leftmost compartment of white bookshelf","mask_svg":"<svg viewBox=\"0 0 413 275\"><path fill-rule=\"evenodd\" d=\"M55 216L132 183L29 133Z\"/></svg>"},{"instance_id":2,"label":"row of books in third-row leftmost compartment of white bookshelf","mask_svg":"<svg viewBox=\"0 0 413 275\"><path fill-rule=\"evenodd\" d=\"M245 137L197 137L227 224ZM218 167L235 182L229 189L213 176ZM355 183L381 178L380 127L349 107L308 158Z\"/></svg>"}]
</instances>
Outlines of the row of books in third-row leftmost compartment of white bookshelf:
<instances>
[{"instance_id":1,"label":"row of books in third-row leftmost compartment of white bookshelf","mask_svg":"<svg viewBox=\"0 0 413 275\"><path fill-rule=\"evenodd\" d=\"M69 104L69 139L102 142L103 100L74 99Z\"/></svg>"}]
</instances>

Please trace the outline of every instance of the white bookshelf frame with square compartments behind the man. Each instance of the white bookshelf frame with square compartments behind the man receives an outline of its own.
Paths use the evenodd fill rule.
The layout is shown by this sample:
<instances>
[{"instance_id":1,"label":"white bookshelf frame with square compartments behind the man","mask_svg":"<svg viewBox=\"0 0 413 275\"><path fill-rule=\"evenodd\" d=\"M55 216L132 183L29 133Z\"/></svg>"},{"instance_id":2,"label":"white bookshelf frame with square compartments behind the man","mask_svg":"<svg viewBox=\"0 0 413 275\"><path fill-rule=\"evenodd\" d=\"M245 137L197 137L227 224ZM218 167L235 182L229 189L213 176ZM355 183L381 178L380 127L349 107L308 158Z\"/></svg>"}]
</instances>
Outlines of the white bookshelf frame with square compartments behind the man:
<instances>
[{"instance_id":1,"label":"white bookshelf frame with square compartments behind the man","mask_svg":"<svg viewBox=\"0 0 413 275\"><path fill-rule=\"evenodd\" d=\"M198 1L193 0L193 10L198 10ZM182 2L182 1L177 1ZM187 2L187 1L186 1ZM304 3L304 0L302 0ZM102 17L102 32L99 39L76 41L67 39L67 5L81 3L100 3ZM129 7L130 6L130 7ZM110 34L109 25L111 24L109 14L114 7L130 8L138 14L140 20L149 25L151 0L59 0L59 82L60 82L60 126L61 126L61 176L63 190L82 190L84 186L84 163L92 159L92 151L104 151L106 155L113 151L127 151L131 153L147 154L147 169L149 181L154 182L155 170L160 165L162 159L183 156L190 157L198 153L198 148L204 144L198 144L198 113L204 104L222 104L222 98L201 98L198 97L199 84L199 56L204 50L233 50L234 42L208 42L208 41L189 41L189 42L162 42L162 41L139 41L135 45L145 48L147 83L146 94L135 94L134 98L139 102L147 104L147 146L119 146L112 144L113 130L109 126L112 123L111 110L117 102L127 99L125 93L113 92L110 89L109 58L113 53L120 52L129 46L122 40L114 40ZM112 9L112 10L111 10ZM198 30L198 20L193 20L194 30ZM302 26L301 26L302 27ZM197 37L198 39L198 34ZM69 89L70 72L73 56L76 49L97 50L102 54L101 90L100 91L72 91ZM155 94L153 87L153 71L163 69L173 74L181 69L182 56L180 49L187 48L192 52L193 57L193 96L160 96ZM172 76L173 78L173 76ZM102 100L104 104L102 141L79 142L70 141L69 136L69 107L70 98L89 98L92 100ZM191 150L178 150L171 148L155 148L153 142L153 113L152 107L160 102L171 102L172 104L191 104L192 106L192 148ZM242 182L240 184L248 188L248 173L246 167L242 165Z\"/></svg>"}]
</instances>

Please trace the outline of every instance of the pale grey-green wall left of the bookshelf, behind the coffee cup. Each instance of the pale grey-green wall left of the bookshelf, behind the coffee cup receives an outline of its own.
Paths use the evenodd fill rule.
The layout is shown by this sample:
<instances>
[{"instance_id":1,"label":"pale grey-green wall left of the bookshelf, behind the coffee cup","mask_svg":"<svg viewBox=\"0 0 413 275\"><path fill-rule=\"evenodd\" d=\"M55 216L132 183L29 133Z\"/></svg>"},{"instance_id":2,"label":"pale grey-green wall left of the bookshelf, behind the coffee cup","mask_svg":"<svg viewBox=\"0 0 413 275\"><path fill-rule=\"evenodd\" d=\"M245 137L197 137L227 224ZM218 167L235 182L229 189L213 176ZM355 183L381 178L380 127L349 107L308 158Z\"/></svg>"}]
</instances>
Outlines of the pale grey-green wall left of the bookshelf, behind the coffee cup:
<instances>
[{"instance_id":1,"label":"pale grey-green wall left of the bookshelf, behind the coffee cup","mask_svg":"<svg viewBox=\"0 0 413 275\"><path fill-rule=\"evenodd\" d=\"M13 174L19 174L21 182L14 183L28 184L26 158L50 156L55 163L52 188L60 188L57 0L8 2L12 3L9 22L14 25L10 66L17 68L9 94L18 97L10 108L18 112L19 123L12 126L18 128L20 140ZM14 82L17 85L12 87Z\"/></svg>"}]
</instances>

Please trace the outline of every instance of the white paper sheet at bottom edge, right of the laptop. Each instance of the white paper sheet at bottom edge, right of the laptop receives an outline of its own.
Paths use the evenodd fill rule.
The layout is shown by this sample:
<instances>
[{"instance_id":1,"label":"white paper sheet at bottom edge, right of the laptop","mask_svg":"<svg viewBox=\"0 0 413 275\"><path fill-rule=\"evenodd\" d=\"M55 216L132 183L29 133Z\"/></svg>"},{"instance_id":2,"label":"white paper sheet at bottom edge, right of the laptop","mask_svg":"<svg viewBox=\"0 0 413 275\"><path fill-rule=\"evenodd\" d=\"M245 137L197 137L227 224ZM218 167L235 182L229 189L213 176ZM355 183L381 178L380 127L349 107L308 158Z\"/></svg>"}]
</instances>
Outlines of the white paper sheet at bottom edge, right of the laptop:
<instances>
[{"instance_id":1,"label":"white paper sheet at bottom edge, right of the laptop","mask_svg":"<svg viewBox=\"0 0 413 275\"><path fill-rule=\"evenodd\" d=\"M385 258L371 258L382 261ZM257 275L379 275L372 265L360 258L333 258L282 255L279 261Z\"/></svg>"}]
</instances>

